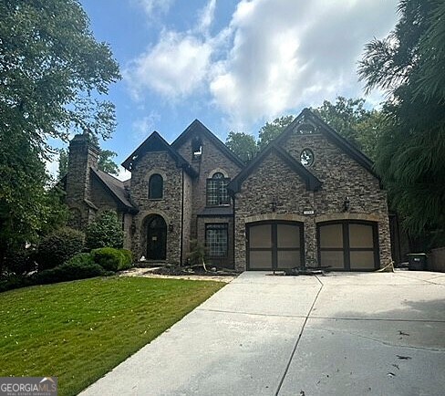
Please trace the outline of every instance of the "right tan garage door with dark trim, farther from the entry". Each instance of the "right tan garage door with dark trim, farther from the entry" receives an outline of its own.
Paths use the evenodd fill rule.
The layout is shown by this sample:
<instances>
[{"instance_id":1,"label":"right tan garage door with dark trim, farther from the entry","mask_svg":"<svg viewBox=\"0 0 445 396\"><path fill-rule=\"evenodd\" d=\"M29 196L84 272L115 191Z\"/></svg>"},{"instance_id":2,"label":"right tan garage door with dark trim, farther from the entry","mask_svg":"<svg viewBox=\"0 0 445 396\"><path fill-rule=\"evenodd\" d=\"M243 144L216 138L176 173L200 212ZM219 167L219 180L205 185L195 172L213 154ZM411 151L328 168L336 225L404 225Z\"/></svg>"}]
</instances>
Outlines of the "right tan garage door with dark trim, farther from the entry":
<instances>
[{"instance_id":1,"label":"right tan garage door with dark trim, farther from the entry","mask_svg":"<svg viewBox=\"0 0 445 396\"><path fill-rule=\"evenodd\" d=\"M377 224L337 222L318 224L318 262L347 271L379 267Z\"/></svg>"}]
</instances>

